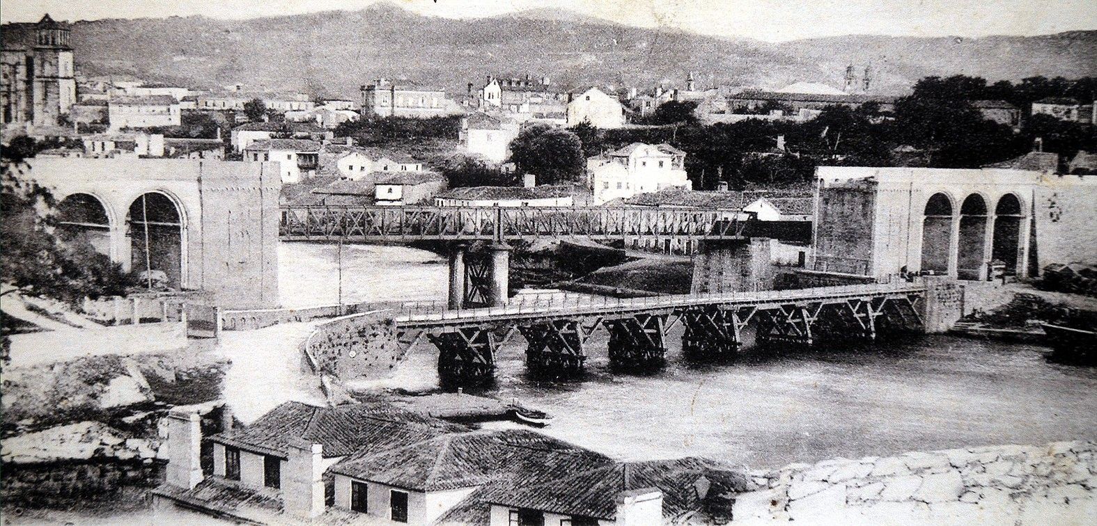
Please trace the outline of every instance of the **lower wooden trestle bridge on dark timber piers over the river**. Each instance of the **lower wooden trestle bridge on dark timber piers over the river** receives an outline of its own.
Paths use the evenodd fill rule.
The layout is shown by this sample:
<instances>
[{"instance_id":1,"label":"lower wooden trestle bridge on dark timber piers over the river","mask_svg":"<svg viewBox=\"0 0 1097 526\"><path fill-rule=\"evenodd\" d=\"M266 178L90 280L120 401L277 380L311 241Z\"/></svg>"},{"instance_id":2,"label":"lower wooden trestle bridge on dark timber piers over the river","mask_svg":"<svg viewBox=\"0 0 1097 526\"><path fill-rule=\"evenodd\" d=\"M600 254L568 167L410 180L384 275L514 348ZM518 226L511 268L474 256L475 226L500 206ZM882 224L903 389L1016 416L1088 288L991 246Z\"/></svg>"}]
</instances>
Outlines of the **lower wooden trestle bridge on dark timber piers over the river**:
<instances>
[{"instance_id":1,"label":"lower wooden trestle bridge on dark timber piers over the river","mask_svg":"<svg viewBox=\"0 0 1097 526\"><path fill-rule=\"evenodd\" d=\"M685 328L682 351L700 359L734 354L748 327L758 343L802 345L919 331L926 291L924 284L901 283L635 299L579 297L453 310L408 306L394 321L403 344L410 347L426 336L438 347L443 382L471 385L493 378L496 352L516 333L527 342L531 373L568 378L583 371L585 345L599 329L609 332L614 368L643 370L664 364L667 335L678 323Z\"/></svg>"}]
</instances>

